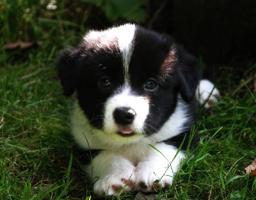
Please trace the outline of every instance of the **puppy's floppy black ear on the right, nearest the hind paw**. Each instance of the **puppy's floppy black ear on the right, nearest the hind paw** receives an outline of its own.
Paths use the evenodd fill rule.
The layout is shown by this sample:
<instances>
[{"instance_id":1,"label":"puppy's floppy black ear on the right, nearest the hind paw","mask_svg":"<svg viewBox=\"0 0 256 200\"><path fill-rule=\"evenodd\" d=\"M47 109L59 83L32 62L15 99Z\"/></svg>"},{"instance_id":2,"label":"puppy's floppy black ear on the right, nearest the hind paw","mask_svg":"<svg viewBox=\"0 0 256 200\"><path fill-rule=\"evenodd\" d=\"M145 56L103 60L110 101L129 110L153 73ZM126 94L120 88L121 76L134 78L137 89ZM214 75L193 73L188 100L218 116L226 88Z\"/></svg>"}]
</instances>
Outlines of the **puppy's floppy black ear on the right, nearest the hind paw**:
<instances>
[{"instance_id":1,"label":"puppy's floppy black ear on the right, nearest the hind paw","mask_svg":"<svg viewBox=\"0 0 256 200\"><path fill-rule=\"evenodd\" d=\"M182 99L189 102L195 96L196 87L200 79L200 67L195 57L187 52L179 54L179 85Z\"/></svg>"}]
</instances>

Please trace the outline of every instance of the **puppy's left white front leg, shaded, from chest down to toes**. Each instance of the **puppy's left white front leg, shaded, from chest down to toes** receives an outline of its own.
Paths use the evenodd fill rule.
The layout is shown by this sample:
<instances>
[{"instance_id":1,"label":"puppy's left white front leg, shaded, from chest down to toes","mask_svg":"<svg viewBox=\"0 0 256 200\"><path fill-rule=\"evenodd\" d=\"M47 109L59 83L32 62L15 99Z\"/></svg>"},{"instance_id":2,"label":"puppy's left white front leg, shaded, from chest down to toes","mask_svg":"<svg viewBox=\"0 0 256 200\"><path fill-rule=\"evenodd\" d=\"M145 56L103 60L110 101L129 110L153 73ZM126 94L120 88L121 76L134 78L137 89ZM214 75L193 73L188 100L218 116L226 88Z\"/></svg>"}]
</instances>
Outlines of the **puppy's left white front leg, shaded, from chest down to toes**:
<instances>
[{"instance_id":1,"label":"puppy's left white front leg, shaded, from chest down to toes","mask_svg":"<svg viewBox=\"0 0 256 200\"><path fill-rule=\"evenodd\" d=\"M103 151L92 160L86 171L95 181L93 192L98 195L124 194L132 191L135 182L133 164L124 157Z\"/></svg>"}]
</instances>

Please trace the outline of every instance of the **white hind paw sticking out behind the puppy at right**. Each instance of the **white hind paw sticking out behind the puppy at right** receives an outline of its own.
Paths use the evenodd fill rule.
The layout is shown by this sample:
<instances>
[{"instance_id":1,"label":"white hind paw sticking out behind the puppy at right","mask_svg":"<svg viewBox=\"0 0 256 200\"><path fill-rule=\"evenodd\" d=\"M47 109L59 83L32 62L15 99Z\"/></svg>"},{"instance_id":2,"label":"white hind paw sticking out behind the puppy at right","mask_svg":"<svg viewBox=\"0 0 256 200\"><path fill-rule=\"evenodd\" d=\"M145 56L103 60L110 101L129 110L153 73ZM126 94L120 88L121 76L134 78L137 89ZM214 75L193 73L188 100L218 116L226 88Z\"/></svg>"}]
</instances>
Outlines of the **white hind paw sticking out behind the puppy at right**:
<instances>
[{"instance_id":1,"label":"white hind paw sticking out behind the puppy at right","mask_svg":"<svg viewBox=\"0 0 256 200\"><path fill-rule=\"evenodd\" d=\"M200 81L196 89L196 99L200 104L204 105L206 109L210 108L212 104L218 102L218 96L220 96L220 92L212 82L209 80Z\"/></svg>"}]
</instances>

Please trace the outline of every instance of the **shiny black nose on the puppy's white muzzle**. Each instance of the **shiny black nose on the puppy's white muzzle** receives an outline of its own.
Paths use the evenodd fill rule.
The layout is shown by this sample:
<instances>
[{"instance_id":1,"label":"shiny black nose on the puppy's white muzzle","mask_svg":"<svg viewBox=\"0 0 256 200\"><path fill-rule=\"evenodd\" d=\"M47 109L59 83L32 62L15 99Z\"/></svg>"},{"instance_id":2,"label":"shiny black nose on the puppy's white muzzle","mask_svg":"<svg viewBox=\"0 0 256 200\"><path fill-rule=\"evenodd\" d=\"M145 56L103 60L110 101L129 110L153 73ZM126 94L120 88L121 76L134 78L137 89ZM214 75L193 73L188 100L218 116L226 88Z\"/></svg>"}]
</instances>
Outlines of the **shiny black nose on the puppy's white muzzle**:
<instances>
[{"instance_id":1,"label":"shiny black nose on the puppy's white muzzle","mask_svg":"<svg viewBox=\"0 0 256 200\"><path fill-rule=\"evenodd\" d=\"M135 115L135 111L129 107L118 107L113 111L113 117L116 124L121 125L132 124Z\"/></svg>"}]
</instances>

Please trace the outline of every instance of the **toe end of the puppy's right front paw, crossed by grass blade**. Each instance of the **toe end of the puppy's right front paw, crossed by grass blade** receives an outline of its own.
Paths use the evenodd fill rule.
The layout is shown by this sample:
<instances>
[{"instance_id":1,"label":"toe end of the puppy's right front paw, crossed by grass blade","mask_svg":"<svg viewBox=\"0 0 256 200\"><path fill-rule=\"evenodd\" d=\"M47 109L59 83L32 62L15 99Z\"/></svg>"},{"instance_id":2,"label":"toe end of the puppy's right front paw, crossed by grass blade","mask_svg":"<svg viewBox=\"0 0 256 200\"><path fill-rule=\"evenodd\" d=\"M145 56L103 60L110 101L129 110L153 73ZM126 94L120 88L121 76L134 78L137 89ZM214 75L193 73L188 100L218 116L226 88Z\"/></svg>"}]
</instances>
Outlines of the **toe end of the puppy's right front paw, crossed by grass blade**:
<instances>
[{"instance_id":1,"label":"toe end of the puppy's right front paw, crossed by grass blade","mask_svg":"<svg viewBox=\"0 0 256 200\"><path fill-rule=\"evenodd\" d=\"M161 164L156 165L156 163L152 164L150 162L142 162L137 167L135 190L152 192L170 187L172 182L173 171L171 167L167 169Z\"/></svg>"}]
</instances>

